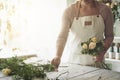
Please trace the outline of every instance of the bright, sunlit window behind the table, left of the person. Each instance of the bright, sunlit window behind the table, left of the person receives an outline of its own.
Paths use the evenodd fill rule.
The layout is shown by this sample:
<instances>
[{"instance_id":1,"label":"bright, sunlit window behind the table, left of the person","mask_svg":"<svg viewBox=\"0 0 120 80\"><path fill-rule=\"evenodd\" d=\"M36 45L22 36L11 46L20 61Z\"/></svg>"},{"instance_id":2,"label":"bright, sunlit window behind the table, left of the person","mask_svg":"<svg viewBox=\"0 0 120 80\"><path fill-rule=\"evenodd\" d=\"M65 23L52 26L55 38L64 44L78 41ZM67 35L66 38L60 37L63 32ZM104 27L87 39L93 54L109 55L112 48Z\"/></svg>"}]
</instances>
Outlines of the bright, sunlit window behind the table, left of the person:
<instances>
[{"instance_id":1,"label":"bright, sunlit window behind the table, left of the person","mask_svg":"<svg viewBox=\"0 0 120 80\"><path fill-rule=\"evenodd\" d=\"M55 53L66 0L0 0L0 46Z\"/></svg>"}]
</instances>

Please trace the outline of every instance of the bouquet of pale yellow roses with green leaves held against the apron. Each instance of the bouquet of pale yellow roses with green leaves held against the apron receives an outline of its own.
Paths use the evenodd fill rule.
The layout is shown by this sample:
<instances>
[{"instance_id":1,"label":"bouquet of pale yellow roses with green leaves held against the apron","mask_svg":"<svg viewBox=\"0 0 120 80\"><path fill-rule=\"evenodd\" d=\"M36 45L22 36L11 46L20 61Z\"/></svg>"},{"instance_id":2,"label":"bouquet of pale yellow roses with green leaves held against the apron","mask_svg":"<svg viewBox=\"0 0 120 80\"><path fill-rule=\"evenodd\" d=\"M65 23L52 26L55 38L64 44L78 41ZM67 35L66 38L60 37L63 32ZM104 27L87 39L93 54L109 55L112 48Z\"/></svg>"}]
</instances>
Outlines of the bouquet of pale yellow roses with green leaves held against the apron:
<instances>
[{"instance_id":1,"label":"bouquet of pale yellow roses with green leaves held against the apron","mask_svg":"<svg viewBox=\"0 0 120 80\"><path fill-rule=\"evenodd\" d=\"M104 43L103 41L98 41L96 37L92 37L88 41L82 42L81 47L82 54L96 56L104 49Z\"/></svg>"}]
</instances>

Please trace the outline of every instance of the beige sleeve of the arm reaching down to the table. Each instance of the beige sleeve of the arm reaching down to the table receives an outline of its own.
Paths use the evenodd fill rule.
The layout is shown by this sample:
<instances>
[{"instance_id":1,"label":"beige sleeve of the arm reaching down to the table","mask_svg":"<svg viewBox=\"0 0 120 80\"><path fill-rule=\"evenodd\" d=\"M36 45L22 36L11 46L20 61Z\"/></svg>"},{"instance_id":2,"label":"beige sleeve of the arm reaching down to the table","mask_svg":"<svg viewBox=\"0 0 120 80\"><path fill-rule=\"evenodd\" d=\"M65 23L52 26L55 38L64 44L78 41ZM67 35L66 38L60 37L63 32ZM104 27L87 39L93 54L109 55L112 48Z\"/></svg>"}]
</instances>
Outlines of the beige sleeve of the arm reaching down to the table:
<instances>
[{"instance_id":1,"label":"beige sleeve of the arm reaching down to the table","mask_svg":"<svg viewBox=\"0 0 120 80\"><path fill-rule=\"evenodd\" d=\"M70 10L67 8L63 13L61 30L56 42L56 48L57 48L56 56L59 56L59 57L62 56L64 47L67 41L67 37L69 34L70 26L71 26Z\"/></svg>"}]
</instances>

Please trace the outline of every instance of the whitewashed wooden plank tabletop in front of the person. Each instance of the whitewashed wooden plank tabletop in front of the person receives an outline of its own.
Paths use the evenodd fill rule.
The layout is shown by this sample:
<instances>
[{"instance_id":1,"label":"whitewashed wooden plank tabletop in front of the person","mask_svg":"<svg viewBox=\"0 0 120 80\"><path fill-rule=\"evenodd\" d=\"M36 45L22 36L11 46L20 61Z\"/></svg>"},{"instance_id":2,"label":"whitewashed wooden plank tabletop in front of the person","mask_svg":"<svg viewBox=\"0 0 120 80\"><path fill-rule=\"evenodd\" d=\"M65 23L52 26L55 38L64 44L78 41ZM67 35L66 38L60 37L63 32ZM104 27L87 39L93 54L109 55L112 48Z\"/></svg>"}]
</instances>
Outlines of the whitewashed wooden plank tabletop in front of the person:
<instances>
[{"instance_id":1,"label":"whitewashed wooden plank tabletop in front of the person","mask_svg":"<svg viewBox=\"0 0 120 80\"><path fill-rule=\"evenodd\" d=\"M59 76L59 77L58 77ZM58 72L47 73L49 79L55 80L120 80L120 73L89 66L70 65L62 66ZM0 73L0 80L12 80L11 77L3 76ZM41 79L37 79L41 80Z\"/></svg>"}]
</instances>

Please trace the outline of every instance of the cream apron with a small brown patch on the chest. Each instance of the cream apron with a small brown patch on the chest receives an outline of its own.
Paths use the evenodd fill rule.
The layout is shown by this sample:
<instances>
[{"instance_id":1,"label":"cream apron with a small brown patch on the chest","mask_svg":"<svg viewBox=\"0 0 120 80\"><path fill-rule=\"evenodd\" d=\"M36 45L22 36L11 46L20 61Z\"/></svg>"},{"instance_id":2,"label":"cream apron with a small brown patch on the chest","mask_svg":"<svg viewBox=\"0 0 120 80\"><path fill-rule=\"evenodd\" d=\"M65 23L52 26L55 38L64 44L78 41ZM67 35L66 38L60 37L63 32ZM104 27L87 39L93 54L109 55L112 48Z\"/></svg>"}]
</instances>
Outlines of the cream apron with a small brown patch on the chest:
<instances>
[{"instance_id":1,"label":"cream apron with a small brown patch on the chest","mask_svg":"<svg viewBox=\"0 0 120 80\"><path fill-rule=\"evenodd\" d=\"M85 25L85 22L91 22ZM95 59L91 55L81 54L81 42L89 38L97 37L98 40L104 38L104 21L101 15L83 16L74 18L70 31L70 57L69 62L81 65L92 65Z\"/></svg>"}]
</instances>

